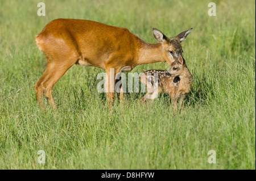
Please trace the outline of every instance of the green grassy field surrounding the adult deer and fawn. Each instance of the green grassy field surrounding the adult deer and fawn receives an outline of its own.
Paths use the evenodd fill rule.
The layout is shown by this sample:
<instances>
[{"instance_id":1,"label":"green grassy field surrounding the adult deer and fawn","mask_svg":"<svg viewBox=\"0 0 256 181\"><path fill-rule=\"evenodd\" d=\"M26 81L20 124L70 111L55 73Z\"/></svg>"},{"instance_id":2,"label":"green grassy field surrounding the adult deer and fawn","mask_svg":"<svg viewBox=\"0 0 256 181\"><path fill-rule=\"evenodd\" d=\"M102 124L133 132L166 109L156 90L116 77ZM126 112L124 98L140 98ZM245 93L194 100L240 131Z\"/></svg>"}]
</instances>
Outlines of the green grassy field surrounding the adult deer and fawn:
<instances>
[{"instance_id":1,"label":"green grassy field surrounding the adult deer and fawn","mask_svg":"<svg viewBox=\"0 0 256 181\"><path fill-rule=\"evenodd\" d=\"M255 1L214 0L217 16L211 1L43 1L46 16L38 2L0 1L0 169L255 169ZM144 94L130 93L109 115L96 89L104 70L78 65L53 87L58 109L40 109L34 85L47 61L34 40L56 18L126 27L148 43L152 27L168 37L193 27L182 43L194 77L183 112L166 95L142 106Z\"/></svg>"}]
</instances>

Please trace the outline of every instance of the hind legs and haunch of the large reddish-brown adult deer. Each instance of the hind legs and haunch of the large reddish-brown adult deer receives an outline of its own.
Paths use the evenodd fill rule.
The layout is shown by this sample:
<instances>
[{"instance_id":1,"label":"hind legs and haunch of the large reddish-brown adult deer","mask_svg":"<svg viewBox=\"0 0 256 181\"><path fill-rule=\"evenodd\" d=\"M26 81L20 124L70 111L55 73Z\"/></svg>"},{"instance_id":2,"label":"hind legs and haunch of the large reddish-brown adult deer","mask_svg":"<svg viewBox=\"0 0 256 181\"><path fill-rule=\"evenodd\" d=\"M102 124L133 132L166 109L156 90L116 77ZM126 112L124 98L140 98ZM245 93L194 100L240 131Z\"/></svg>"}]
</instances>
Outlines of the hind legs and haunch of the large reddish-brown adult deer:
<instances>
[{"instance_id":1,"label":"hind legs and haunch of the large reddish-brown adult deer","mask_svg":"<svg viewBox=\"0 0 256 181\"><path fill-rule=\"evenodd\" d=\"M69 34L65 36L67 41L51 37L37 38L37 45L46 55L48 65L42 77L36 82L36 95L40 103L44 94L53 108L55 103L52 98L52 87L72 65L82 58L75 39ZM72 40L72 43L68 40Z\"/></svg>"}]
</instances>

